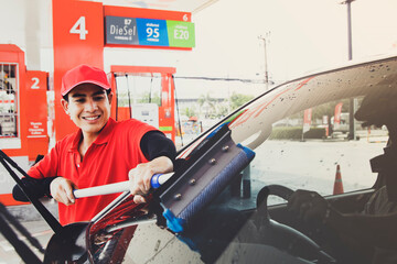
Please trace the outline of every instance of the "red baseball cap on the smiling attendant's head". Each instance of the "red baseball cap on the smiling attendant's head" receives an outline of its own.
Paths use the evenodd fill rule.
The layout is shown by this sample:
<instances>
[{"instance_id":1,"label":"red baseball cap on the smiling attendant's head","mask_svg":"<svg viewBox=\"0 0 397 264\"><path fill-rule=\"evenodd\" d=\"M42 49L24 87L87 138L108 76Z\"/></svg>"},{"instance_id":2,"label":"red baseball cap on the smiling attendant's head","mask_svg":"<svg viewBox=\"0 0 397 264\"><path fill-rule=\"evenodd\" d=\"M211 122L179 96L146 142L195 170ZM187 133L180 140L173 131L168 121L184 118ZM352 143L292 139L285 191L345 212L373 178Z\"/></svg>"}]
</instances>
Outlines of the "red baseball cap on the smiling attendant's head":
<instances>
[{"instance_id":1,"label":"red baseball cap on the smiling attendant's head","mask_svg":"<svg viewBox=\"0 0 397 264\"><path fill-rule=\"evenodd\" d=\"M82 64L69 69L62 77L61 95L66 96L67 92L81 84L94 84L105 90L110 89L109 81L104 70Z\"/></svg>"}]
</instances>

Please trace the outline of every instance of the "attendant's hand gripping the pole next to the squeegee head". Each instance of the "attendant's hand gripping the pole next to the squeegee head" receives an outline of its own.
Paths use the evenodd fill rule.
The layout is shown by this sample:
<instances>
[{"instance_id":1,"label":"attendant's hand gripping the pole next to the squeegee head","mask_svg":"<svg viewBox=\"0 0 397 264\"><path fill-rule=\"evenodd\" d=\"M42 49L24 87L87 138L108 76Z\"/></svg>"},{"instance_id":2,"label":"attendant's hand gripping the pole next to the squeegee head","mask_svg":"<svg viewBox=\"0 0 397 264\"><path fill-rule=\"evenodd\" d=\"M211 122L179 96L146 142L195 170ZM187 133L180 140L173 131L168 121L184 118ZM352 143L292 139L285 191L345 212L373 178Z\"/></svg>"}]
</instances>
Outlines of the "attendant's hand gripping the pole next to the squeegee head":
<instances>
[{"instance_id":1,"label":"attendant's hand gripping the pole next to the squeegee head","mask_svg":"<svg viewBox=\"0 0 397 264\"><path fill-rule=\"evenodd\" d=\"M172 161L165 156L157 157L148 163L141 163L128 173L130 191L136 204L146 202L144 195L150 190L150 179L154 174L171 173Z\"/></svg>"}]
</instances>

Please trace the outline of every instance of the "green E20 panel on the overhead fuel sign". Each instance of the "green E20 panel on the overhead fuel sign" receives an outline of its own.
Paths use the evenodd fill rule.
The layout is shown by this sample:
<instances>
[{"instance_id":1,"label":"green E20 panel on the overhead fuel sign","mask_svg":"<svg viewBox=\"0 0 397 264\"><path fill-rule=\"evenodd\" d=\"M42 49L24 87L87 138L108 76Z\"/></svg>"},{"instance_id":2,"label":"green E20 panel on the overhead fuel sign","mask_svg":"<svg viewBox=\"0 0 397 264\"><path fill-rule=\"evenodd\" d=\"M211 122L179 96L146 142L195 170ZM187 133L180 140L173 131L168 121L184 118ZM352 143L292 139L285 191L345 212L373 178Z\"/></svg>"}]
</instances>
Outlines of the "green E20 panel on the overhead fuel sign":
<instances>
[{"instance_id":1,"label":"green E20 panel on the overhead fuel sign","mask_svg":"<svg viewBox=\"0 0 397 264\"><path fill-rule=\"evenodd\" d=\"M170 46L194 47L194 24L183 21L167 21L167 31Z\"/></svg>"}]
</instances>

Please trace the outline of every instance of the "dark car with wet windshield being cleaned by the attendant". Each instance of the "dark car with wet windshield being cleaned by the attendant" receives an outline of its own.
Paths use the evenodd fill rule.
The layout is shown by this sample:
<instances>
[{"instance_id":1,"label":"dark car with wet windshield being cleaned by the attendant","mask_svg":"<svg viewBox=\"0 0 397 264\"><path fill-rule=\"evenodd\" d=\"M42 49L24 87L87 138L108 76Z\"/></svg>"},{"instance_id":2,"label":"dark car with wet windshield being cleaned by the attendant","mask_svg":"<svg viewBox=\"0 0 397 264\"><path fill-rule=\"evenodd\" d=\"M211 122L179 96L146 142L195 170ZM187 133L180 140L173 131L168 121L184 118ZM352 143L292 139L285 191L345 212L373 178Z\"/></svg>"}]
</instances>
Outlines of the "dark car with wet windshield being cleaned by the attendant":
<instances>
[{"instance_id":1,"label":"dark car with wet windshield being cleaned by the attendant","mask_svg":"<svg viewBox=\"0 0 397 264\"><path fill-rule=\"evenodd\" d=\"M334 255L334 241L315 231L321 223L315 229L303 223L287 210L285 199L290 190L310 189L343 213L362 212L382 186L369 160L383 154L388 134L382 128L364 129L356 121L357 140L337 139L324 127L316 128L314 119L303 133L304 111L328 108L332 112L343 99L355 98L360 105L367 95L395 90L397 56L348 63L277 86L179 152L183 169L175 172L183 177L195 166L184 162L206 156L212 147L207 140L222 127L228 128L235 144L255 152L249 165L202 205L189 228L174 232L162 219L164 207L159 204L167 204L164 194L178 180L171 177L147 205L135 205L124 193L89 223L66 226L50 241L45 261L63 261L60 252L66 245L67 257L85 257L86 263L343 263ZM288 119L300 125L279 125L289 123L282 121ZM71 235L65 244L64 237ZM368 251L358 256L371 263Z\"/></svg>"}]
</instances>

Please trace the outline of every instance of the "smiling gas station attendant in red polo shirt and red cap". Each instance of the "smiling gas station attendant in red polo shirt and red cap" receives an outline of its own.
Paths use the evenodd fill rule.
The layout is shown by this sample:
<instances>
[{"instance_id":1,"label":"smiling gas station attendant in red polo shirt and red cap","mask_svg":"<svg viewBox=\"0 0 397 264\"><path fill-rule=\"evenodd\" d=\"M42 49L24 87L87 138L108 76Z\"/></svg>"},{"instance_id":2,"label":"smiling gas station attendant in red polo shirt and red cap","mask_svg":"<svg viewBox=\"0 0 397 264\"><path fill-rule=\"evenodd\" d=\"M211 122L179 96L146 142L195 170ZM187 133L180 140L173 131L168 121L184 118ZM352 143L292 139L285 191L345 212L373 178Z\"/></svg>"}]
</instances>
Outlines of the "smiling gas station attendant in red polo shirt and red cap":
<instances>
[{"instance_id":1,"label":"smiling gas station attendant in red polo shirt and red cap","mask_svg":"<svg viewBox=\"0 0 397 264\"><path fill-rule=\"evenodd\" d=\"M118 195L75 199L73 189L130 182L135 202L144 202L150 178L173 170L175 146L162 132L135 119L110 118L112 92L104 70L79 65L62 79L62 106L79 129L58 141L24 179L36 195L58 201L61 224L90 220ZM19 188L14 198L21 200ZM23 195L22 195L23 198Z\"/></svg>"}]
</instances>

